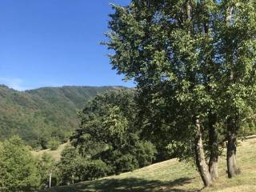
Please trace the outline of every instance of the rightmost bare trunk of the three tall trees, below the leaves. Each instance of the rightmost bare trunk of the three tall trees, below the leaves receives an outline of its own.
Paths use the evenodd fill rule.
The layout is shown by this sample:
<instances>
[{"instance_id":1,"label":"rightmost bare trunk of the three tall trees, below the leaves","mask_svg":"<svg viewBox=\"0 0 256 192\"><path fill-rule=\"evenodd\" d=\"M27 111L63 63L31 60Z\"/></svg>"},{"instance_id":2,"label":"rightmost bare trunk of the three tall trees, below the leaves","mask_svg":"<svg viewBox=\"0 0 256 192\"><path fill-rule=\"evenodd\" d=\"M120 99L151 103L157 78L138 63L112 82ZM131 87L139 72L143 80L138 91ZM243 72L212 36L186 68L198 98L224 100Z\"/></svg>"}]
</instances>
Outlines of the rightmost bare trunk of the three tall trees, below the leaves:
<instances>
[{"instance_id":1,"label":"rightmost bare trunk of the three tall trees, below the leaves","mask_svg":"<svg viewBox=\"0 0 256 192\"><path fill-rule=\"evenodd\" d=\"M229 178L233 178L236 174L240 174L237 166L236 152L237 152L237 125L236 121L229 118L227 123L227 148L226 148L226 164L227 174Z\"/></svg>"}]
</instances>

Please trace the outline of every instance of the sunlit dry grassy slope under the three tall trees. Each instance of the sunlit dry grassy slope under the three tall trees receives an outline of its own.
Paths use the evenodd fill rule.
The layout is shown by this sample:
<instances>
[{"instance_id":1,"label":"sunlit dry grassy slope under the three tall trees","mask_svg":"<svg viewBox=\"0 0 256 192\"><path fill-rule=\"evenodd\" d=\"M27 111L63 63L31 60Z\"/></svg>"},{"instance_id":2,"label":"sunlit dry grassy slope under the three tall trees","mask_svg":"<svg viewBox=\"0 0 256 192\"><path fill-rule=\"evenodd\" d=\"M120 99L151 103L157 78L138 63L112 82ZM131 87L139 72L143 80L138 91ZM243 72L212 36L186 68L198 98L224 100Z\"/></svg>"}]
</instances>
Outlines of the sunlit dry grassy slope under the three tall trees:
<instances>
[{"instance_id":1,"label":"sunlit dry grassy slope under the three tall trees","mask_svg":"<svg viewBox=\"0 0 256 192\"><path fill-rule=\"evenodd\" d=\"M229 179L226 175L225 156L220 159L219 176L214 186L202 189L203 185L194 167L185 162L171 159L140 170L120 174L90 182L81 182L74 186L52 188L51 192L82 191L256 191L256 138L241 142L238 147L238 165L242 174Z\"/></svg>"}]
</instances>

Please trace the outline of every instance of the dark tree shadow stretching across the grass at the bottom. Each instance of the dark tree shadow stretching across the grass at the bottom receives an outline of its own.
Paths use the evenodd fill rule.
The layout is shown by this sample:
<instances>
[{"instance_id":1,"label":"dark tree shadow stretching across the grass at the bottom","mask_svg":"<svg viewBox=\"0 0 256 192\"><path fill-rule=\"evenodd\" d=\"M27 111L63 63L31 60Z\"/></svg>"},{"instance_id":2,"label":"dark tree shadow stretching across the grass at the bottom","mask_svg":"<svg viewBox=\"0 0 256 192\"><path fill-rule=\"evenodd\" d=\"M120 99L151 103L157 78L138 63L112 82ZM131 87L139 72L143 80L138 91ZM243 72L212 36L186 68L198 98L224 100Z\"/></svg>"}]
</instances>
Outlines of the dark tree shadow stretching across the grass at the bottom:
<instances>
[{"instance_id":1,"label":"dark tree shadow stretching across the grass at the bottom","mask_svg":"<svg viewBox=\"0 0 256 192\"><path fill-rule=\"evenodd\" d=\"M56 187L52 192L160 192L160 191L177 191L189 192L189 190L179 190L176 187L188 184L193 178L178 178L170 182L158 180L146 180L142 178L106 178L94 182L82 182L74 186Z\"/></svg>"}]
</instances>

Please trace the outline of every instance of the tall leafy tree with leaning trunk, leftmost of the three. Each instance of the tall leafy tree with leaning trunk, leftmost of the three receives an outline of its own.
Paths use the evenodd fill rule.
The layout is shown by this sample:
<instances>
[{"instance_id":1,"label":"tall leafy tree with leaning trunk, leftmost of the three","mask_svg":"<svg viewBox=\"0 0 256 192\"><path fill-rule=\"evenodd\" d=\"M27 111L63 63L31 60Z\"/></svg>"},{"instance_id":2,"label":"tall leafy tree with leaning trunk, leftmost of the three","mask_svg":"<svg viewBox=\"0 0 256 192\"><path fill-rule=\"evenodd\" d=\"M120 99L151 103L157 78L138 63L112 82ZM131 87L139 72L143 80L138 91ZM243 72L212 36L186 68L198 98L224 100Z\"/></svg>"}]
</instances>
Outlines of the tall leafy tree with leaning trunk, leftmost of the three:
<instances>
[{"instance_id":1,"label":"tall leafy tree with leaning trunk, leftmost of the three","mask_svg":"<svg viewBox=\"0 0 256 192\"><path fill-rule=\"evenodd\" d=\"M198 53L204 48L200 26L204 15L198 9L194 17L194 7L197 4L190 1L133 1L127 7L114 6L107 45L115 50L110 56L114 69L134 78L142 95L149 95L146 106L153 105L160 113L156 117L166 119L154 118L159 123L153 121L153 127L159 130L167 122L175 133L173 139L183 143L194 140L198 170L208 186L211 178L202 147L201 121L210 96L203 79L206 61Z\"/></svg>"}]
</instances>

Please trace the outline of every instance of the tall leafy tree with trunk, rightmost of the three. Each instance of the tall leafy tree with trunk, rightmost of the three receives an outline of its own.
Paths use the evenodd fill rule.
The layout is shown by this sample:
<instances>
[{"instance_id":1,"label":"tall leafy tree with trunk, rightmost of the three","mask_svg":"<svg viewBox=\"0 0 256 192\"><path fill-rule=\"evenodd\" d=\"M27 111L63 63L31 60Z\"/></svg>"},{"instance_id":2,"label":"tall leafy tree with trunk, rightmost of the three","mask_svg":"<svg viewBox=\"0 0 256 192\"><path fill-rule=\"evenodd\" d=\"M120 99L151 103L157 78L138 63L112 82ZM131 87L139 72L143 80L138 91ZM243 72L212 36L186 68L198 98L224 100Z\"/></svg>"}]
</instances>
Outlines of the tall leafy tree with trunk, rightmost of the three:
<instances>
[{"instance_id":1,"label":"tall leafy tree with trunk, rightmost of the three","mask_svg":"<svg viewBox=\"0 0 256 192\"><path fill-rule=\"evenodd\" d=\"M230 178L240 172L236 165L238 133L245 123L254 120L255 114L255 5L254 1L222 1L219 10L223 18L219 21L219 55L224 71L220 89Z\"/></svg>"}]
</instances>

